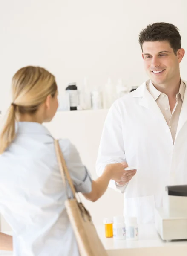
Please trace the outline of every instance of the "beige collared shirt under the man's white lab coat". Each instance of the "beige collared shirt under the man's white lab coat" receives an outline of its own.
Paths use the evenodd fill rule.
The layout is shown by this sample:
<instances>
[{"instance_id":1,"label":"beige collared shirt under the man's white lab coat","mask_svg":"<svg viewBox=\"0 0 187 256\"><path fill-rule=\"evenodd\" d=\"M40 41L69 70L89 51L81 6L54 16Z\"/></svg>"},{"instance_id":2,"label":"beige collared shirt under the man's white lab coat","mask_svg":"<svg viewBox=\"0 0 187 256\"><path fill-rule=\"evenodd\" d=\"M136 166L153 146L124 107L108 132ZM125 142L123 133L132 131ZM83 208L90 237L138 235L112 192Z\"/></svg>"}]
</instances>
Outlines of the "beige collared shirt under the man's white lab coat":
<instances>
[{"instance_id":1,"label":"beige collared shirt under the man's white lab coat","mask_svg":"<svg viewBox=\"0 0 187 256\"><path fill-rule=\"evenodd\" d=\"M181 107L182 107L182 103L184 100L185 88L186 88L186 85L181 80L179 92L176 95L176 104L171 113L168 96L164 93L161 93L159 90L157 90L151 81L147 85L147 89L149 90L150 94L155 99L156 103L158 104L158 107L160 108L160 110L170 128L171 135L173 138L173 143L175 141L175 135L176 135L177 126L178 126L178 119L179 119L179 116L181 113Z\"/></svg>"}]
</instances>

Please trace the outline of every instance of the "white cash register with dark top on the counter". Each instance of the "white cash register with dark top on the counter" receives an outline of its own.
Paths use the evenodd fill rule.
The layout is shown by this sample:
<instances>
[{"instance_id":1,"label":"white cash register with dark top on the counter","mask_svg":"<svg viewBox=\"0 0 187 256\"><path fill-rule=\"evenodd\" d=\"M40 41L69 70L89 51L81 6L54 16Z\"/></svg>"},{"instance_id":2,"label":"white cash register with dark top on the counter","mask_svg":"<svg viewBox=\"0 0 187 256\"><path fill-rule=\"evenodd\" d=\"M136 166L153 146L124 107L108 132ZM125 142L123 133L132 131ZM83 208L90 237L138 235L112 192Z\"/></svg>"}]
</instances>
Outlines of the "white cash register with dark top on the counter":
<instances>
[{"instance_id":1,"label":"white cash register with dark top on the counter","mask_svg":"<svg viewBox=\"0 0 187 256\"><path fill-rule=\"evenodd\" d=\"M163 207L155 209L155 227L163 240L187 239L187 185L166 187Z\"/></svg>"}]
</instances>

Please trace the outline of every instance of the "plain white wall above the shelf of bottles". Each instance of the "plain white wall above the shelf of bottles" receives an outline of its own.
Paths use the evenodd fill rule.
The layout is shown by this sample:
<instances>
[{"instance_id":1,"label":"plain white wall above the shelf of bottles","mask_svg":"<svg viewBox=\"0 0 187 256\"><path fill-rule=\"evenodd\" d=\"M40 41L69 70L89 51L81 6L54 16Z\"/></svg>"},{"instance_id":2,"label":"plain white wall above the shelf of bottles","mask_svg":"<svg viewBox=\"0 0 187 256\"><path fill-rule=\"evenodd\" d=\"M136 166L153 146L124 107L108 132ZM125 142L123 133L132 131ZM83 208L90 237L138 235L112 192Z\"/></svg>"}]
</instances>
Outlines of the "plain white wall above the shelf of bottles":
<instances>
[{"instance_id":1,"label":"plain white wall above the shelf of bottles","mask_svg":"<svg viewBox=\"0 0 187 256\"><path fill-rule=\"evenodd\" d=\"M138 33L166 21L181 31L187 49L186 0L6 0L0 1L0 109L10 100L12 75L25 65L48 68L59 90L69 81L102 86L107 77L127 84L146 78ZM181 64L183 79L187 58Z\"/></svg>"}]
</instances>

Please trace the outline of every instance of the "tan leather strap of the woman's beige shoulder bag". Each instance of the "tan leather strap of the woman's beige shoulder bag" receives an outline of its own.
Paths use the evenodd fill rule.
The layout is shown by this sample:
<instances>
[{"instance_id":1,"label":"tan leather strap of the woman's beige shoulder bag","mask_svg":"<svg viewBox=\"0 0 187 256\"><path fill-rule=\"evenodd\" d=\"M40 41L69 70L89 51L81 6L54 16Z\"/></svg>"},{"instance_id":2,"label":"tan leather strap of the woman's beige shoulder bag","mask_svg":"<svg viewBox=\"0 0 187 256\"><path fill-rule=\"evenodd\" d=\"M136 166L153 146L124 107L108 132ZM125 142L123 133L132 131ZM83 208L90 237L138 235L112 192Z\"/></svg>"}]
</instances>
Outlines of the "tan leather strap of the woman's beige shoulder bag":
<instances>
[{"instance_id":1,"label":"tan leather strap of the woman's beige shoulder bag","mask_svg":"<svg viewBox=\"0 0 187 256\"><path fill-rule=\"evenodd\" d=\"M66 185L66 180L68 181L69 186L71 188L73 198L75 198L75 193L76 193L75 187L74 187L74 185L72 183L72 179L69 175L69 172L68 172L68 169L67 169L67 166L66 166L66 162L64 160L64 157L63 157L62 151L60 149L58 140L55 140L55 152L56 152L56 156L57 156L57 160L58 160L58 166L60 168L60 173L61 173L62 180L63 180L63 185L64 185L65 190L66 190L67 198L69 198L69 196L68 196L68 189L67 189L67 185Z\"/></svg>"}]
</instances>

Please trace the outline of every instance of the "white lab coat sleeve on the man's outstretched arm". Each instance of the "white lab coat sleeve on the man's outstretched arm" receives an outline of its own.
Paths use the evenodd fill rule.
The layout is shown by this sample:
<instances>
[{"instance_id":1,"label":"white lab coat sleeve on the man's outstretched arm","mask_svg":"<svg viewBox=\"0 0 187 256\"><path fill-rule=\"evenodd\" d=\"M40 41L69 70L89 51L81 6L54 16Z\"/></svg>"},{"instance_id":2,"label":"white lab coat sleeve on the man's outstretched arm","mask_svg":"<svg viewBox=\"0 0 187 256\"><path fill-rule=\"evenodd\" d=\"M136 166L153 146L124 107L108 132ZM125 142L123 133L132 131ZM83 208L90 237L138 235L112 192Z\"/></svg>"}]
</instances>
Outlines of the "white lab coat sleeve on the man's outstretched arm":
<instances>
[{"instance_id":1,"label":"white lab coat sleeve on the man's outstretched arm","mask_svg":"<svg viewBox=\"0 0 187 256\"><path fill-rule=\"evenodd\" d=\"M121 123L121 113L118 102L114 102L106 116L96 161L96 172L101 176L109 163L125 162L124 140ZM124 193L127 184L116 186L115 180L110 180L109 187Z\"/></svg>"}]
</instances>

